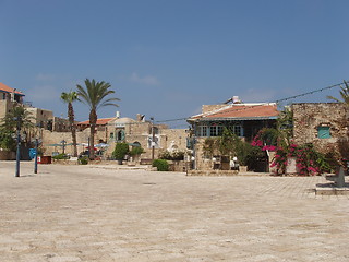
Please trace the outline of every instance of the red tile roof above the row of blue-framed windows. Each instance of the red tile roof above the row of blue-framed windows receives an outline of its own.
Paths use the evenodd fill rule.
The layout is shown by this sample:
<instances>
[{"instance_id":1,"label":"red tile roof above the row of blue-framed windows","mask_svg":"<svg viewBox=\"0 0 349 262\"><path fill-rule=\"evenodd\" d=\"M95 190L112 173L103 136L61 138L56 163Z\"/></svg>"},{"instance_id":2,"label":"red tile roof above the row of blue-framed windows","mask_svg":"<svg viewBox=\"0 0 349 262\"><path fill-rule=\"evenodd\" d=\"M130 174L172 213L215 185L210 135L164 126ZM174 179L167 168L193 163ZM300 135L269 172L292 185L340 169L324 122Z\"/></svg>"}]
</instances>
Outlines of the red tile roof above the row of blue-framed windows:
<instances>
[{"instance_id":1,"label":"red tile roof above the row of blue-framed windows","mask_svg":"<svg viewBox=\"0 0 349 262\"><path fill-rule=\"evenodd\" d=\"M275 118L279 115L276 104L232 104L206 114L196 115L190 120L198 119L258 119Z\"/></svg>"}]
</instances>

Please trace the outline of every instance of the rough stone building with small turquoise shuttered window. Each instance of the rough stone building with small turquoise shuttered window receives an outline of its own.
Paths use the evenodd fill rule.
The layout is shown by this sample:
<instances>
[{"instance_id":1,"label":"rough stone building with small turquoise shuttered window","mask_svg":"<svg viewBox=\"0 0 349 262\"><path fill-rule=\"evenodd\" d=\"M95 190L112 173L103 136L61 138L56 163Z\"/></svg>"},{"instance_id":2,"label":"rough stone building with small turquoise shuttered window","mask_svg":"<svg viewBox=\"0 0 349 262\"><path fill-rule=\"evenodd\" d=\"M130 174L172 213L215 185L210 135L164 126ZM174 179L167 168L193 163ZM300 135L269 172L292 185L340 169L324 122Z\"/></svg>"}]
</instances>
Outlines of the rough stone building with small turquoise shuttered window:
<instances>
[{"instance_id":1,"label":"rough stone building with small turquoise shuttered window","mask_svg":"<svg viewBox=\"0 0 349 262\"><path fill-rule=\"evenodd\" d=\"M322 153L337 152L349 157L349 110L340 103L298 103L293 112L293 140L297 144L312 143Z\"/></svg>"}]
</instances>

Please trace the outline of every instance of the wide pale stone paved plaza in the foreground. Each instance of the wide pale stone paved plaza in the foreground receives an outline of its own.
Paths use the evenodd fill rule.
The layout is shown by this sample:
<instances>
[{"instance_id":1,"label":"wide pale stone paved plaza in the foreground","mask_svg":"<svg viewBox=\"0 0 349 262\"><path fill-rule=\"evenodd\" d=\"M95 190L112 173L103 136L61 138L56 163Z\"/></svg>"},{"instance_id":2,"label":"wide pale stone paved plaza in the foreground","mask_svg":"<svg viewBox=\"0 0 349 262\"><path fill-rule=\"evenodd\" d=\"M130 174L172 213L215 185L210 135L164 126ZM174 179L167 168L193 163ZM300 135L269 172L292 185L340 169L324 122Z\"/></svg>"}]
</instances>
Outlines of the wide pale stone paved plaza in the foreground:
<instances>
[{"instance_id":1,"label":"wide pale stone paved plaza in the foreground","mask_svg":"<svg viewBox=\"0 0 349 262\"><path fill-rule=\"evenodd\" d=\"M323 177L186 177L0 162L0 261L349 261Z\"/></svg>"}]
</instances>

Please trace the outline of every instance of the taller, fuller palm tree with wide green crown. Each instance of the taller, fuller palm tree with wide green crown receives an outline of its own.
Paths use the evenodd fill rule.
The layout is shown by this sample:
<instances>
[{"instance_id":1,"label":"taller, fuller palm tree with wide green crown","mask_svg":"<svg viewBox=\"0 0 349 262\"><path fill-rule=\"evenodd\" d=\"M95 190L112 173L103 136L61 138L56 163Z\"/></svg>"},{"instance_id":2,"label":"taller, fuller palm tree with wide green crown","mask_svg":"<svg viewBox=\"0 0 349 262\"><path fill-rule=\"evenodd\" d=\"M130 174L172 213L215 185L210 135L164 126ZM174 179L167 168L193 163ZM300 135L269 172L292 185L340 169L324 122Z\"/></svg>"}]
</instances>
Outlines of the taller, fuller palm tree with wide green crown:
<instances>
[{"instance_id":1,"label":"taller, fuller palm tree with wide green crown","mask_svg":"<svg viewBox=\"0 0 349 262\"><path fill-rule=\"evenodd\" d=\"M104 106L117 106L113 102L119 98L106 98L108 95L115 93L109 90L111 85L107 82L96 82L94 79L85 80L85 88L76 85L77 95L89 107L89 158L95 158L94 143L95 143L95 128L97 122L97 109Z\"/></svg>"}]
</instances>

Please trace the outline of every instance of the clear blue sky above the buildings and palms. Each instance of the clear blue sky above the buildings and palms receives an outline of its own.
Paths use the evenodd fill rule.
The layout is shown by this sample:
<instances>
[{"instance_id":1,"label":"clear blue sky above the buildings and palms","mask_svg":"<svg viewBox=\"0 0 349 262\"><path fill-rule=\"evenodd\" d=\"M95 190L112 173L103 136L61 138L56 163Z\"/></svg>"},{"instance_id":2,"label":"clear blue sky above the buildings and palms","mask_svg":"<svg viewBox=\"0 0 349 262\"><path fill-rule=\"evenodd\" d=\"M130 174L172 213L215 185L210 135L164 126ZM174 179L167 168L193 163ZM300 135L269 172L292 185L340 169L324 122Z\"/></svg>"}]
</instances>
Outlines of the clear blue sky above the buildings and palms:
<instances>
[{"instance_id":1,"label":"clear blue sky above the buildings and palms","mask_svg":"<svg viewBox=\"0 0 349 262\"><path fill-rule=\"evenodd\" d=\"M98 117L177 119L234 95L274 102L349 79L348 10L346 0L0 0L0 82L55 116L67 116L60 94L86 78L121 99Z\"/></svg>"}]
</instances>

